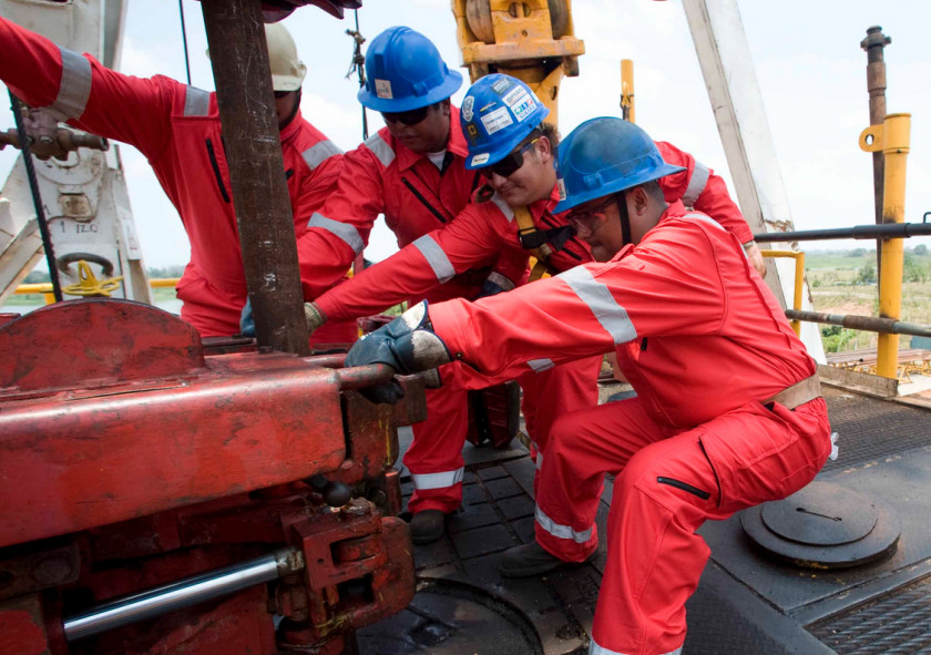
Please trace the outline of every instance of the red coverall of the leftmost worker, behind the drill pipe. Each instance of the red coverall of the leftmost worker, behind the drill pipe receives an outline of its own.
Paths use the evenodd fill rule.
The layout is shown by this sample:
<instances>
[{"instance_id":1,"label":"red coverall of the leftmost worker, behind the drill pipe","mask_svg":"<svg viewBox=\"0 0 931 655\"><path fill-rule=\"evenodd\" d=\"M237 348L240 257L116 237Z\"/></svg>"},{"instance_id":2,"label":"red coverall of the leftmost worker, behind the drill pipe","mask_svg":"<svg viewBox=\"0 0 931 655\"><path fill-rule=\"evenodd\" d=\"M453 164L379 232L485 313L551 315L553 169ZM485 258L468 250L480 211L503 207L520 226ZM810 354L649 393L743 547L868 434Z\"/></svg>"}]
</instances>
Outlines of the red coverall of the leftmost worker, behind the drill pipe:
<instances>
[{"instance_id":1,"label":"red coverall of the leftmost worker, behind the drill pipe","mask_svg":"<svg viewBox=\"0 0 931 655\"><path fill-rule=\"evenodd\" d=\"M0 51L0 79L29 105L47 108L79 130L129 143L146 156L191 240L191 262L177 284L182 318L204 337L238 332L246 279L216 95L162 75L123 75L3 19ZM299 112L280 136L300 236L335 185L342 156ZM308 299L341 279L347 268L307 269ZM329 334L314 337L354 341L356 324L335 324Z\"/></svg>"}]
</instances>

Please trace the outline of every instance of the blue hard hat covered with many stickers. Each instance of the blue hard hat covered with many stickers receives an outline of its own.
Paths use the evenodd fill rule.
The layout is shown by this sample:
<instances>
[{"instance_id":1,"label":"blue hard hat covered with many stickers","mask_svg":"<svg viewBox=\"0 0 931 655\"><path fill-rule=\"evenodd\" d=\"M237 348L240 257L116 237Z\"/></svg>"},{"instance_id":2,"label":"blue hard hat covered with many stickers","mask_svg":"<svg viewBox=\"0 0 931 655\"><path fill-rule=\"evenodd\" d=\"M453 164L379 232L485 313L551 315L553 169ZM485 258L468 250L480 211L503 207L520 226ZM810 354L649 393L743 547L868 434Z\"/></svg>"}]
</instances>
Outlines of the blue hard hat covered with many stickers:
<instances>
[{"instance_id":1,"label":"blue hard hat covered with many stickers","mask_svg":"<svg viewBox=\"0 0 931 655\"><path fill-rule=\"evenodd\" d=\"M550 114L530 86L510 75L485 75L466 92L459 122L469 146L466 167L504 158Z\"/></svg>"}]
</instances>

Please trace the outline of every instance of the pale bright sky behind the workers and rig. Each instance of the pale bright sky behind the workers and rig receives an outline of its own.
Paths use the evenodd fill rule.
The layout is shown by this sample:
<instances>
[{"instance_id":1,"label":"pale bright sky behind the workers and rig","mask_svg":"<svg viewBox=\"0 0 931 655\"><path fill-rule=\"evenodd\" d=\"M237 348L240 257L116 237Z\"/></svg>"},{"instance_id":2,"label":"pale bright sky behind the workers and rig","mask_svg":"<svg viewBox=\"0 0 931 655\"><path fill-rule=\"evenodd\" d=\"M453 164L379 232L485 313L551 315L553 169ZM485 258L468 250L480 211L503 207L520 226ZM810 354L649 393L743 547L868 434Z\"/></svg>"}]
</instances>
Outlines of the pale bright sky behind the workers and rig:
<instances>
[{"instance_id":1,"label":"pale bright sky behind the workers and rig","mask_svg":"<svg viewBox=\"0 0 931 655\"><path fill-rule=\"evenodd\" d=\"M193 83L213 89L200 3L183 3ZM859 42L874 24L892 38L886 50L888 109L912 114L906 219L920 222L931 211L931 51L927 48L931 2L739 0L738 4L796 228L873 222L871 157L859 150L857 140L869 124L867 58ZM430 37L449 64L460 62L449 0L364 0L359 20L369 40L388 27L407 24ZM618 115L620 60L633 59L637 122L654 139L695 154L733 191L681 1L575 0L573 20L586 54L580 58L580 76L563 81L561 131L565 134L593 116ZM355 147L361 141L358 83L345 78L352 50L345 30L355 25L352 13L337 21L307 8L286 19L285 25L309 69L305 116L344 150ZM176 2L127 0L121 70L185 79ZM374 130L382 123L369 112L369 124ZM12 116L4 109L0 129L8 126ZM187 240L174 208L145 160L129 146L122 154L146 264L184 264ZM10 149L0 152L2 178L12 161ZM911 239L909 245L922 242ZM833 247L871 243L837 242ZM378 260L395 249L393 236L380 227L367 256Z\"/></svg>"}]
</instances>

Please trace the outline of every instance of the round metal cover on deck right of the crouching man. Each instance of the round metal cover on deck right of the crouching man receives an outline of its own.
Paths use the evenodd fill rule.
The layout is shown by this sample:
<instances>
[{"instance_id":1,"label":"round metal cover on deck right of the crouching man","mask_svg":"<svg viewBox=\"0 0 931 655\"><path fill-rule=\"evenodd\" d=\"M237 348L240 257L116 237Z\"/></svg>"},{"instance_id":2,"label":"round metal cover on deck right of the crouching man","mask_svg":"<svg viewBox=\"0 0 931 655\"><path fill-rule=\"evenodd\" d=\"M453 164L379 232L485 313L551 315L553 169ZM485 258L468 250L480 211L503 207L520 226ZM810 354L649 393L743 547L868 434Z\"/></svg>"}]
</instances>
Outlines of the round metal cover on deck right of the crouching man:
<instances>
[{"instance_id":1,"label":"round metal cover on deck right of the crouching man","mask_svg":"<svg viewBox=\"0 0 931 655\"><path fill-rule=\"evenodd\" d=\"M890 555L901 533L898 516L879 499L822 481L745 510L740 523L767 554L814 569L858 566Z\"/></svg>"}]
</instances>

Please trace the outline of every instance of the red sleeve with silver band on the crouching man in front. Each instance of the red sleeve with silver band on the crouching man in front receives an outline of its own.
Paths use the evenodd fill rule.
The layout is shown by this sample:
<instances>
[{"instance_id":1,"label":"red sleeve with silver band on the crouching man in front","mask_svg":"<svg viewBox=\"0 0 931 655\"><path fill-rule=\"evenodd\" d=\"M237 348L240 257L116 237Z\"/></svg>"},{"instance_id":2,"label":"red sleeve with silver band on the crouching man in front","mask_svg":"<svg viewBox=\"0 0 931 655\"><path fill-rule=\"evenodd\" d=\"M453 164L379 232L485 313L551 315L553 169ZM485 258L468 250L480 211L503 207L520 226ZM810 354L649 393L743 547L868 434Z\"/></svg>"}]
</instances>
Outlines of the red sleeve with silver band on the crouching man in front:
<instances>
[{"instance_id":1,"label":"red sleeve with silver band on the crouching man in front","mask_svg":"<svg viewBox=\"0 0 931 655\"><path fill-rule=\"evenodd\" d=\"M679 223L655 228L606 264L577 266L475 303L432 305L430 320L453 357L495 378L525 371L521 365L529 361L560 364L652 335L717 334L727 297L712 262L715 245L706 232Z\"/></svg>"}]
</instances>

